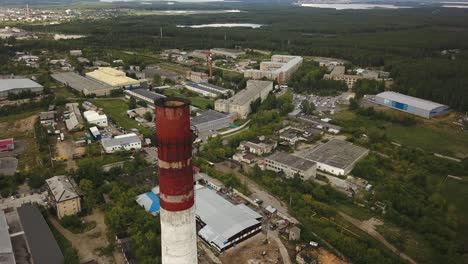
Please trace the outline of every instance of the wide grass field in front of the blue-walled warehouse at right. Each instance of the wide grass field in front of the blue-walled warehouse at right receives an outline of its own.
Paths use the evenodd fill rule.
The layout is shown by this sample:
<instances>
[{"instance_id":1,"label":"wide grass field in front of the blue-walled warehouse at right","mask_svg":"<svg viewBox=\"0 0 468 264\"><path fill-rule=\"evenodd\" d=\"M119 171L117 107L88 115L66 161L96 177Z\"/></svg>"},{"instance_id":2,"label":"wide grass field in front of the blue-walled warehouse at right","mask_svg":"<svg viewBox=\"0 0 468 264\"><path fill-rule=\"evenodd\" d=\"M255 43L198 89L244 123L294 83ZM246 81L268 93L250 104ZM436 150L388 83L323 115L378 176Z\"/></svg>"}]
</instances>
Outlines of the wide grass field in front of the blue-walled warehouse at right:
<instances>
[{"instance_id":1,"label":"wide grass field in front of the blue-walled warehouse at right","mask_svg":"<svg viewBox=\"0 0 468 264\"><path fill-rule=\"evenodd\" d=\"M389 139L403 145L457 157L468 156L468 132L466 131L429 125L426 122L406 127L358 116L351 111L339 112L332 118L344 127L363 128L368 132L374 129L384 129Z\"/></svg>"}]
</instances>

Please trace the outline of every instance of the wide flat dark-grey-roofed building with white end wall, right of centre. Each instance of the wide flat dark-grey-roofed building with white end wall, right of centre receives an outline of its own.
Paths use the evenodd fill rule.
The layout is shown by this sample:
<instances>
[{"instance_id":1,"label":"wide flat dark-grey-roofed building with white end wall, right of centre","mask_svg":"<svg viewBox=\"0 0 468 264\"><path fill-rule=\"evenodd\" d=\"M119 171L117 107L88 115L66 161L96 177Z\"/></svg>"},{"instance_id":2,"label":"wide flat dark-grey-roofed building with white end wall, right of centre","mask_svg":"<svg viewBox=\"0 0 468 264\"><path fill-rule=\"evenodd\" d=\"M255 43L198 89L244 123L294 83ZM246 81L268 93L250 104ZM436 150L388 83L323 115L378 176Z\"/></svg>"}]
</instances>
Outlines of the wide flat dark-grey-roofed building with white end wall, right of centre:
<instances>
[{"instance_id":1,"label":"wide flat dark-grey-roofed building with white end wall, right of centre","mask_svg":"<svg viewBox=\"0 0 468 264\"><path fill-rule=\"evenodd\" d=\"M351 142L332 139L304 153L304 158L317 162L317 169L334 175L347 175L369 150Z\"/></svg>"}]
</instances>

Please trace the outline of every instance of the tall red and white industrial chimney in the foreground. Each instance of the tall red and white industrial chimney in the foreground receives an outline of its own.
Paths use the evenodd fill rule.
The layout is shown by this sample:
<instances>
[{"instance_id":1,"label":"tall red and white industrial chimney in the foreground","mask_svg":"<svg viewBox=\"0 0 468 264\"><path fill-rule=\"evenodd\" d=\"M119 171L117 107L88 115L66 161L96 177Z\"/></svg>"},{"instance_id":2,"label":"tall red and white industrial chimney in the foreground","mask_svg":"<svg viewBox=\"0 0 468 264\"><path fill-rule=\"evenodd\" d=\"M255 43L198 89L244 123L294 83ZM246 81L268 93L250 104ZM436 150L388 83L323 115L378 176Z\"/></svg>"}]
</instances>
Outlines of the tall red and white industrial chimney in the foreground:
<instances>
[{"instance_id":1,"label":"tall red and white industrial chimney in the foreground","mask_svg":"<svg viewBox=\"0 0 468 264\"><path fill-rule=\"evenodd\" d=\"M163 264L196 264L197 234L190 107L183 99L156 102Z\"/></svg>"}]
</instances>

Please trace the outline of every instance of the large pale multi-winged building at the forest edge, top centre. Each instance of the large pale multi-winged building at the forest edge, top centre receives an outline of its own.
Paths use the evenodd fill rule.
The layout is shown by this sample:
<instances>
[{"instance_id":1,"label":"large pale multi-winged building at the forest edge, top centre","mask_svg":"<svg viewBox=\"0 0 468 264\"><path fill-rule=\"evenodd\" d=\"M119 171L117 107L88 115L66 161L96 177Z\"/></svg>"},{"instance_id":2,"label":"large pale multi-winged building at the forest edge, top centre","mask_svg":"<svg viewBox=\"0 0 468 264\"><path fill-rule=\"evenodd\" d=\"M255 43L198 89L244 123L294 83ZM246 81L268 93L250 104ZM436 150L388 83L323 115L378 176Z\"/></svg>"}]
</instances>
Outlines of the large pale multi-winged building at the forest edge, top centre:
<instances>
[{"instance_id":1,"label":"large pale multi-winged building at the forest edge, top centre","mask_svg":"<svg viewBox=\"0 0 468 264\"><path fill-rule=\"evenodd\" d=\"M245 78L276 80L279 84L285 84L302 65L300 56L273 55L271 61L262 61L259 70L246 70Z\"/></svg>"}]
</instances>

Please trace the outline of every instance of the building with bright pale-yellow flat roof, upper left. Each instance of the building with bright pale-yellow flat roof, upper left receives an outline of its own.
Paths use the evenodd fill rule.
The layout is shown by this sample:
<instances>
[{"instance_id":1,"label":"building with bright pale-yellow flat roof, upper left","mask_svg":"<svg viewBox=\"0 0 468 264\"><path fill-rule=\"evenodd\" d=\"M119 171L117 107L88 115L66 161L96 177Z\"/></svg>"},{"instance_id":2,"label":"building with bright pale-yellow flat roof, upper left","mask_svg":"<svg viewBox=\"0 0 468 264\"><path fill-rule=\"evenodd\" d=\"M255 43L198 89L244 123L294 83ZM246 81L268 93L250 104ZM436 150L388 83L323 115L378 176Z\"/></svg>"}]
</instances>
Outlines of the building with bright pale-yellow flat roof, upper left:
<instances>
[{"instance_id":1,"label":"building with bright pale-yellow flat roof, upper left","mask_svg":"<svg viewBox=\"0 0 468 264\"><path fill-rule=\"evenodd\" d=\"M140 81L127 77L125 72L111 67L99 67L95 71L86 73L86 77L112 86L114 89L140 86Z\"/></svg>"}]
</instances>

